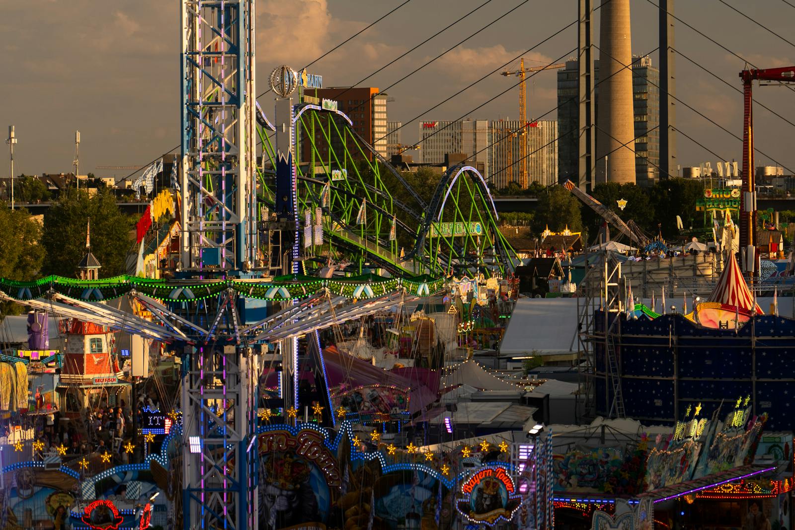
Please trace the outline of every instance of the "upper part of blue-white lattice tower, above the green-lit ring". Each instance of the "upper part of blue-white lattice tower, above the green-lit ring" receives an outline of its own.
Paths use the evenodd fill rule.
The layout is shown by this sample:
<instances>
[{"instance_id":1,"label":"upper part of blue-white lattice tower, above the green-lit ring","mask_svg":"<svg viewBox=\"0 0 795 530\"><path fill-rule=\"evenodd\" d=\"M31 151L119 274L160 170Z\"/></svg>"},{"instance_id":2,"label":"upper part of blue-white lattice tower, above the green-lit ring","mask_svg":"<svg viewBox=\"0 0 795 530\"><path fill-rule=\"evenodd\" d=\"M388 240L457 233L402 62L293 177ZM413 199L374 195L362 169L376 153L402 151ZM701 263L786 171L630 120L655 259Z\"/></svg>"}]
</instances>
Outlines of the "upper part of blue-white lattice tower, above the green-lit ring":
<instances>
[{"instance_id":1,"label":"upper part of blue-white lattice tower, above the green-lit ring","mask_svg":"<svg viewBox=\"0 0 795 530\"><path fill-rule=\"evenodd\" d=\"M181 265L253 264L253 0L182 0Z\"/></svg>"}]
</instances>

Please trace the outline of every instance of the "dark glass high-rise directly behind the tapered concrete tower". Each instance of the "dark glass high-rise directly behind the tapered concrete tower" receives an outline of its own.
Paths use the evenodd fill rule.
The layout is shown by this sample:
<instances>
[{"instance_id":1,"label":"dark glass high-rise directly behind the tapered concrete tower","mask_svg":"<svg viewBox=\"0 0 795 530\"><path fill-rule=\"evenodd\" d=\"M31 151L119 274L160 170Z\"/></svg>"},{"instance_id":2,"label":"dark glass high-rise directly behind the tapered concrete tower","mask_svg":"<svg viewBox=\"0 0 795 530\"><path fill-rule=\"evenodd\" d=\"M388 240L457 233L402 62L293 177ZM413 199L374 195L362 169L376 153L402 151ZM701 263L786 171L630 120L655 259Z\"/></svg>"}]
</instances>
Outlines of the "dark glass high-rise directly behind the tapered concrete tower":
<instances>
[{"instance_id":1,"label":"dark glass high-rise directly behind the tapered concrete tower","mask_svg":"<svg viewBox=\"0 0 795 530\"><path fill-rule=\"evenodd\" d=\"M660 161L660 92L657 88L660 72L651 64L649 56L633 57L632 91L635 140L635 177L640 186L650 186L657 180ZM594 83L596 106L599 106L599 60L594 61ZM580 105L577 102L579 81L577 61L566 62L566 68L557 72L557 125L558 141L558 181L576 180L579 171L579 143L577 137ZM597 116L599 114L597 113ZM599 122L597 122L599 125ZM597 136L597 141L599 137ZM597 149L598 150L598 149ZM609 155L608 155L609 157ZM597 160L596 165L604 159Z\"/></svg>"}]
</instances>

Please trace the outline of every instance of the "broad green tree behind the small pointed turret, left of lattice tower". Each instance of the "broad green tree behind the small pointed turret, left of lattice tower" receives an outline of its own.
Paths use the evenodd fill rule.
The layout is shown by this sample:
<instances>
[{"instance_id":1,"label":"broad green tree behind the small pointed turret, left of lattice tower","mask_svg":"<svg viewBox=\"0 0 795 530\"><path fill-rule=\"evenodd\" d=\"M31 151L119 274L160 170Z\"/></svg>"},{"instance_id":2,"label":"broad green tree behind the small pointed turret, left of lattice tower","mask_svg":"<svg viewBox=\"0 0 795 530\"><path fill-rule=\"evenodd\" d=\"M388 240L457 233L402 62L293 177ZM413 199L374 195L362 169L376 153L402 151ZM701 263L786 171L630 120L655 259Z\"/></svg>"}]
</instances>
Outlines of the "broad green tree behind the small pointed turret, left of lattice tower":
<instances>
[{"instance_id":1,"label":"broad green tree behind the small pointed turret, left of lattice tower","mask_svg":"<svg viewBox=\"0 0 795 530\"><path fill-rule=\"evenodd\" d=\"M84 190L61 194L45 215L41 243L46 250L45 274L74 277L86 252L86 225L91 218L91 252L102 264L101 277L124 272L124 261L133 242L134 220L118 209L114 195L99 189L89 197Z\"/></svg>"}]
</instances>

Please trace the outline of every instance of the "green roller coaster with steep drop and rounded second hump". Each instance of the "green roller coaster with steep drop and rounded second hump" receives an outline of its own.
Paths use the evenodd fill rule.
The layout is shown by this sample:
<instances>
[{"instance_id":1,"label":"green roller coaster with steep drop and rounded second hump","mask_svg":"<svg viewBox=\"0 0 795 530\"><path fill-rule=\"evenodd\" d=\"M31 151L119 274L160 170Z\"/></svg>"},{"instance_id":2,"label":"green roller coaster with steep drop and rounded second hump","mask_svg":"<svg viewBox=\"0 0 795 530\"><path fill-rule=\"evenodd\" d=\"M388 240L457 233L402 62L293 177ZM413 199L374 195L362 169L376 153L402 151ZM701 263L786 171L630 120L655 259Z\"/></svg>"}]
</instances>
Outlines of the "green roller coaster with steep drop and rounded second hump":
<instances>
[{"instance_id":1,"label":"green roller coaster with steep drop and rounded second hump","mask_svg":"<svg viewBox=\"0 0 795 530\"><path fill-rule=\"evenodd\" d=\"M448 168L423 196L359 136L345 114L301 104L297 116L299 218L320 208L326 241L310 255L342 254L400 275L506 274L519 264L498 230L498 215L483 176L471 166ZM274 203L276 151L262 119L258 199ZM307 159L307 160L304 160ZM364 211L365 215L359 215Z\"/></svg>"}]
</instances>

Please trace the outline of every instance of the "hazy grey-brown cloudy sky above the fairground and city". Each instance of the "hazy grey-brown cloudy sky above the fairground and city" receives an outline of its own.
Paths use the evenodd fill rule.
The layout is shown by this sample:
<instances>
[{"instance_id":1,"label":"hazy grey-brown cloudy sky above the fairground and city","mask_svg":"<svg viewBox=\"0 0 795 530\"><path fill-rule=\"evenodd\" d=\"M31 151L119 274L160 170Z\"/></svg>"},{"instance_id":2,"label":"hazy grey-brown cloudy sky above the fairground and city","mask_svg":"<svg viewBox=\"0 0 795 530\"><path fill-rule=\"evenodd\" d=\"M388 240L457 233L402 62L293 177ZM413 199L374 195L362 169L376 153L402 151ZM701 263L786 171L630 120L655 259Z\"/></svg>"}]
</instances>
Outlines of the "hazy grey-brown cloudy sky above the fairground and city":
<instances>
[{"instance_id":1,"label":"hazy grey-brown cloudy sky above the fairground and city","mask_svg":"<svg viewBox=\"0 0 795 530\"><path fill-rule=\"evenodd\" d=\"M415 44L486 0L412 0L372 29L314 64L324 86L359 82ZM657 48L657 10L651 0L631 0L632 47L637 54ZM793 41L795 8L782 0L725 0ZM258 0L258 93L278 64L301 68L391 10L402 0ZM656 0L654 0L656 3ZM475 79L513 60L576 19L576 0L491 0L360 86L382 89L444 52L488 22L512 14L461 44L428 67L389 89L390 121L408 122ZM72 170L74 131L80 130L80 168L98 176L98 165L145 164L179 144L179 2L176 0L25 0L0 2L0 126L16 126L16 171L41 174ZM598 11L595 18L598 21ZM795 48L747 21L719 0L680 0L676 14L759 68L795 64ZM676 48L715 74L741 87L743 61L677 25ZM598 27L595 41L598 44ZM525 53L525 60L549 62L576 48L576 26ZM654 65L657 53L652 53ZM518 63L518 61L516 61ZM538 65L539 62L529 62ZM422 120L518 118L518 88L476 106L516 82L494 74ZM742 137L742 96L677 56L677 96ZM754 96L795 122L795 93L762 87ZM556 106L556 74L541 72L528 87L529 115ZM260 99L272 108L272 95ZM548 114L555 119L556 114ZM795 169L795 127L755 107L758 149ZM404 127L404 143L417 138L417 122ZM742 143L684 106L677 127L720 157L740 160ZM715 161L684 137L678 139L681 165ZM6 156L0 157L5 176ZM757 164L768 163L757 155Z\"/></svg>"}]
</instances>

